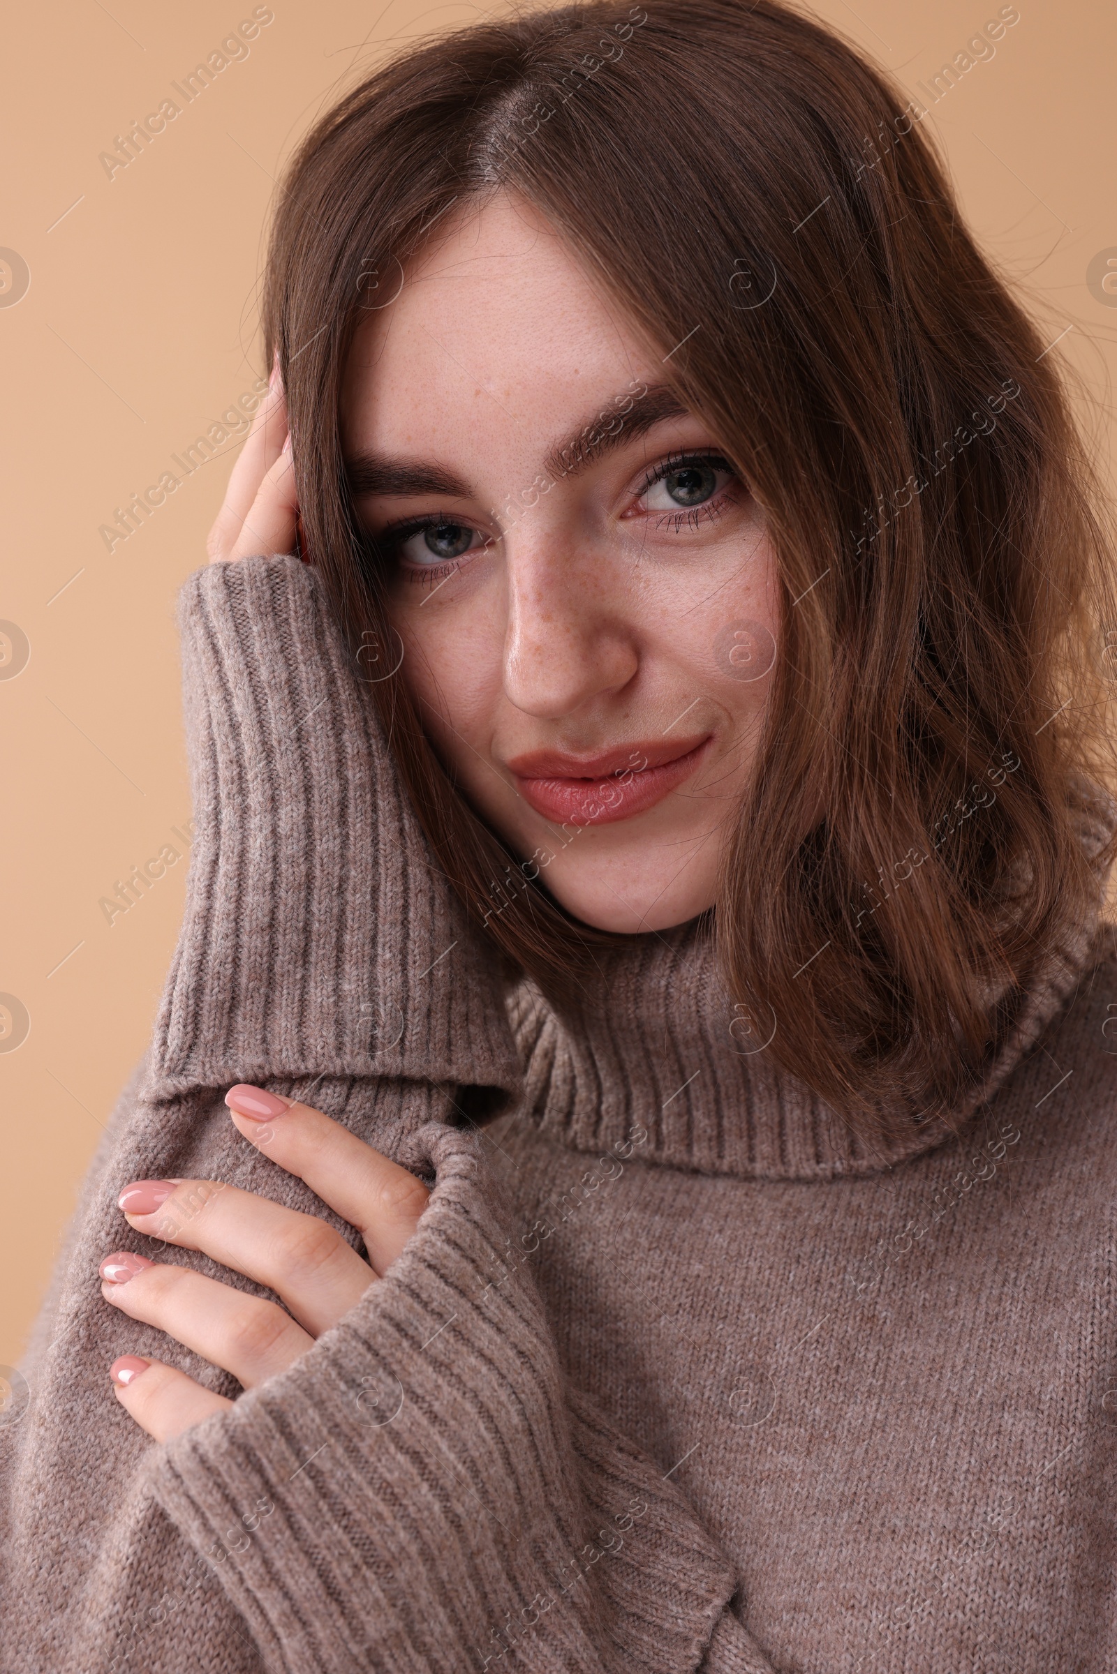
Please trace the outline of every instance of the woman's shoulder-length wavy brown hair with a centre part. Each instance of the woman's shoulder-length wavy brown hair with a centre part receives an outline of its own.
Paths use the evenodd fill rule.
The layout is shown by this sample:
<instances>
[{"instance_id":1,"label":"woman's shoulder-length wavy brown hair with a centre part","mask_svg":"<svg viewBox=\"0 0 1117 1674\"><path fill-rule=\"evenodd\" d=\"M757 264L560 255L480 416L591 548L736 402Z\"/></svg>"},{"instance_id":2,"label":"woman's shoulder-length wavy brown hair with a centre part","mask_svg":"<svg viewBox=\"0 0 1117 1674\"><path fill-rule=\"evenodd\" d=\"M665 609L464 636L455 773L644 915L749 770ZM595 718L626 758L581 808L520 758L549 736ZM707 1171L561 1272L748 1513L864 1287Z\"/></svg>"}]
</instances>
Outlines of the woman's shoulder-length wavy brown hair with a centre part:
<instances>
[{"instance_id":1,"label":"woman's shoulder-length wavy brown hair with a centre part","mask_svg":"<svg viewBox=\"0 0 1117 1674\"><path fill-rule=\"evenodd\" d=\"M1097 887L1075 775L1112 773L1104 502L1055 355L961 224L924 116L774 0L471 25L377 69L305 139L265 305L306 551L360 666L385 671L370 691L424 829L559 998L615 937L541 884L492 914L519 862L389 673L340 378L439 214L501 186L648 343L682 345L665 375L764 506L784 589L713 914L722 968L747 1016L775 1014L769 1051L866 1130L896 1096L948 1112L1008 1028Z\"/></svg>"}]
</instances>

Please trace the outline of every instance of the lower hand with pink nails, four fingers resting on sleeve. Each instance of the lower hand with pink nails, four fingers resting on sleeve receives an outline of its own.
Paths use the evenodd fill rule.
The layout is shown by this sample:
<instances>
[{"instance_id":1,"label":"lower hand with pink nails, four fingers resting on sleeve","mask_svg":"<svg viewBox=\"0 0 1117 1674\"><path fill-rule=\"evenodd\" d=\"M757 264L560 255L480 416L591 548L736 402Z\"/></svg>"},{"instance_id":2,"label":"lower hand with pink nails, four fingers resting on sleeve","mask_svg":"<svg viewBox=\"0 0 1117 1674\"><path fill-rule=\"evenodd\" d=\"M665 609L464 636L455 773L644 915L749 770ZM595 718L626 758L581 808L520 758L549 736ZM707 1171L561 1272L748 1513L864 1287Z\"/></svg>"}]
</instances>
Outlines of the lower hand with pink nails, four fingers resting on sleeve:
<instances>
[{"instance_id":1,"label":"lower hand with pink nails, four fingers resting on sleeve","mask_svg":"<svg viewBox=\"0 0 1117 1674\"><path fill-rule=\"evenodd\" d=\"M129 1225L204 1250L268 1286L290 1312L189 1267L126 1250L102 1261L100 1294L251 1389L285 1371L377 1282L415 1230L429 1192L310 1105L256 1086L234 1086L224 1101L246 1138L360 1230L368 1261L325 1220L221 1180L136 1180L119 1197ZM116 1359L109 1374L121 1404L156 1441L233 1404L186 1373L136 1354Z\"/></svg>"}]
</instances>

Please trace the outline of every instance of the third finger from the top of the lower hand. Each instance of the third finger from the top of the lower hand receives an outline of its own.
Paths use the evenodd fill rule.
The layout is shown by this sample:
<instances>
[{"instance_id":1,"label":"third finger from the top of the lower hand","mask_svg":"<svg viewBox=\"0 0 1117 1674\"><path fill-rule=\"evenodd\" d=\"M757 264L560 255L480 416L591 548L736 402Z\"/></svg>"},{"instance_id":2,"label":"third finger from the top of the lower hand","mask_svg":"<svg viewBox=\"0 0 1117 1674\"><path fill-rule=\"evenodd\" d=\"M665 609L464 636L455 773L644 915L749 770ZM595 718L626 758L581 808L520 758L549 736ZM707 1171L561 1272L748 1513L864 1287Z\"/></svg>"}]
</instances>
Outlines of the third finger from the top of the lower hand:
<instances>
[{"instance_id":1,"label":"third finger from the top of the lower hand","mask_svg":"<svg viewBox=\"0 0 1117 1674\"><path fill-rule=\"evenodd\" d=\"M122 1254L109 1256L104 1266L119 1266ZM286 1371L315 1341L278 1302L246 1296L191 1267L139 1261L144 1266L132 1257L131 1277L117 1284L102 1277L106 1302L231 1371L246 1389Z\"/></svg>"}]
</instances>

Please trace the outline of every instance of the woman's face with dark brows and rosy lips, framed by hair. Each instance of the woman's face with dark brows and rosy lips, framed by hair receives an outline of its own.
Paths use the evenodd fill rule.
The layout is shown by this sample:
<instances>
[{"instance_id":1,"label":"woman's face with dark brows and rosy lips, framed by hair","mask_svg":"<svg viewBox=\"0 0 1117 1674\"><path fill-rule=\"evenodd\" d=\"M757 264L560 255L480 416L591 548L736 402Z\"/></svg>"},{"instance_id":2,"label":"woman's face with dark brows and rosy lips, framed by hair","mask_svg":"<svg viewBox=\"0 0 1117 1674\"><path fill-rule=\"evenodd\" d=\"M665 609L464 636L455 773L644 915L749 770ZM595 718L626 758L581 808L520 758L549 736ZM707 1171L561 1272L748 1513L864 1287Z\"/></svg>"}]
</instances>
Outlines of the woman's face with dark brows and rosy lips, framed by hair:
<instances>
[{"instance_id":1,"label":"woman's face with dark brows and rosy lips, framed by hair","mask_svg":"<svg viewBox=\"0 0 1117 1674\"><path fill-rule=\"evenodd\" d=\"M429 737L526 876L623 932L713 904L779 639L764 516L673 348L501 194L368 313L342 405Z\"/></svg>"}]
</instances>

